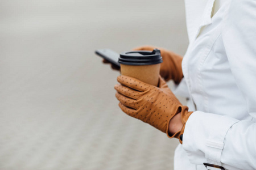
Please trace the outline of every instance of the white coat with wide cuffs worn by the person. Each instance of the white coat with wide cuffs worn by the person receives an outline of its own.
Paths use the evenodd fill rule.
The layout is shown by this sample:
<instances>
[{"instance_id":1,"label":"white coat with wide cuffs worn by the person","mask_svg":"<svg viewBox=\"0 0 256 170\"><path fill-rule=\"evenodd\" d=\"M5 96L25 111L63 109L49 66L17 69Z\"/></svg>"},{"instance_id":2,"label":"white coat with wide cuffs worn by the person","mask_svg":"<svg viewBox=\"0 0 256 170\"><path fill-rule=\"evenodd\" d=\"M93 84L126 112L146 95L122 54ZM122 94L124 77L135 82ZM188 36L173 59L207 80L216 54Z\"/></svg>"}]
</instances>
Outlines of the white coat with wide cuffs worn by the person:
<instances>
[{"instance_id":1,"label":"white coat with wide cuffs worn by the person","mask_svg":"<svg viewBox=\"0 0 256 170\"><path fill-rule=\"evenodd\" d=\"M217 12L214 0L185 0L189 46L174 92L195 112L175 170L256 169L256 1L215 3Z\"/></svg>"}]
</instances>

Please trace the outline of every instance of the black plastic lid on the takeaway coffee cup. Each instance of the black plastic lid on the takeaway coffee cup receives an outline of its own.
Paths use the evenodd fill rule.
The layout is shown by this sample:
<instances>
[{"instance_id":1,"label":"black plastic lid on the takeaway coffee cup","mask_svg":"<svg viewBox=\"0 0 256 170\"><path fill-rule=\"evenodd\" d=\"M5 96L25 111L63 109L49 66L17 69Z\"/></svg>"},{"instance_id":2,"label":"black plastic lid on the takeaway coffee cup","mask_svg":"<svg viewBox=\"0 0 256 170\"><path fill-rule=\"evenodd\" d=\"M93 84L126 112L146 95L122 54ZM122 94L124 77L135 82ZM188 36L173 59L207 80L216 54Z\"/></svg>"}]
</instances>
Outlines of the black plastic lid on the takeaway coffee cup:
<instances>
[{"instance_id":1,"label":"black plastic lid on the takeaway coffee cup","mask_svg":"<svg viewBox=\"0 0 256 170\"><path fill-rule=\"evenodd\" d=\"M122 52L118 58L118 62L123 65L155 65L163 62L159 49L151 51L131 51Z\"/></svg>"}]
</instances>

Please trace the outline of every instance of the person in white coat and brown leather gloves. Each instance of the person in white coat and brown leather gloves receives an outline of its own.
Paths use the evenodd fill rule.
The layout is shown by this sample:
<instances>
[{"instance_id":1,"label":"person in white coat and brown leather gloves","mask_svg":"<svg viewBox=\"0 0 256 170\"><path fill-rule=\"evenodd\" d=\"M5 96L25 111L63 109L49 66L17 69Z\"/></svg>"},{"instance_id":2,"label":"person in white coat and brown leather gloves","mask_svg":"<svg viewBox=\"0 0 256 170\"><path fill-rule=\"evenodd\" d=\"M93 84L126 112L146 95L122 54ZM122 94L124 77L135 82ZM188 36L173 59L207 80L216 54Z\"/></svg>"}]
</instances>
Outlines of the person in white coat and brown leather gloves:
<instances>
[{"instance_id":1,"label":"person in white coat and brown leather gloves","mask_svg":"<svg viewBox=\"0 0 256 170\"><path fill-rule=\"evenodd\" d=\"M188 107L163 79L153 87L118 76L119 107L179 138L175 169L256 169L256 1L185 0L185 10L187 53L160 48L160 75L189 97Z\"/></svg>"}]
</instances>

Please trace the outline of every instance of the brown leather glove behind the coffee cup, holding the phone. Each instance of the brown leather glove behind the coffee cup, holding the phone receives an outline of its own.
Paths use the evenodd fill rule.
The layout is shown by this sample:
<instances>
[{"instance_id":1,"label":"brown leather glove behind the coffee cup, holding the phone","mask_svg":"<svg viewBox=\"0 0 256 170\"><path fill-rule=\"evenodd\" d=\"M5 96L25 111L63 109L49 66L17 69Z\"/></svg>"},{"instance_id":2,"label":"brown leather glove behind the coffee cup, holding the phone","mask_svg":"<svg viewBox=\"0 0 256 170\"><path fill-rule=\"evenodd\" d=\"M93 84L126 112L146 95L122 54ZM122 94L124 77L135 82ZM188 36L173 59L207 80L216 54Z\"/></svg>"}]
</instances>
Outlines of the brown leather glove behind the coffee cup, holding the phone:
<instances>
[{"instance_id":1,"label":"brown leather glove behind the coffee cup, holding the phone","mask_svg":"<svg viewBox=\"0 0 256 170\"><path fill-rule=\"evenodd\" d=\"M144 45L139 46L138 48L134 48L133 50L149 50L152 51L156 46ZM163 62L160 66L160 75L164 78L164 80L174 80L176 84L179 84L181 79L183 78L181 62L183 57L179 54L175 54L169 50L164 48L158 48L161 51L161 56L163 58Z\"/></svg>"}]
</instances>

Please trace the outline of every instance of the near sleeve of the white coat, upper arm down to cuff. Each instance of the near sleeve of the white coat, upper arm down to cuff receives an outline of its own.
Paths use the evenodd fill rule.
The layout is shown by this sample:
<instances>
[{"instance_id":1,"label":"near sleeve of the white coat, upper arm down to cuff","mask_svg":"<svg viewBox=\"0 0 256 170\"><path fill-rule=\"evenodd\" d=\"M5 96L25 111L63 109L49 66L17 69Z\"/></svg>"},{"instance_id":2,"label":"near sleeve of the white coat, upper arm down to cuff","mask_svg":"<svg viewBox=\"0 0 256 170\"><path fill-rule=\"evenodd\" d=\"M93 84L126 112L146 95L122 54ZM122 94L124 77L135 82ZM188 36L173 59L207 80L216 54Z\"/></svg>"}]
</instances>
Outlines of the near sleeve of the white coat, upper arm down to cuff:
<instances>
[{"instance_id":1,"label":"near sleeve of the white coat, upper arm down to cuff","mask_svg":"<svg viewBox=\"0 0 256 170\"><path fill-rule=\"evenodd\" d=\"M253 119L196 111L186 124L183 148L191 163L256 169L256 1L233 0L224 22L222 39L230 69Z\"/></svg>"}]
</instances>

